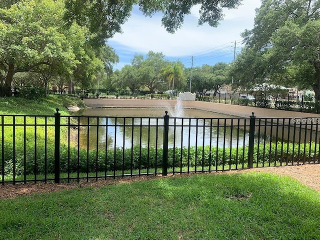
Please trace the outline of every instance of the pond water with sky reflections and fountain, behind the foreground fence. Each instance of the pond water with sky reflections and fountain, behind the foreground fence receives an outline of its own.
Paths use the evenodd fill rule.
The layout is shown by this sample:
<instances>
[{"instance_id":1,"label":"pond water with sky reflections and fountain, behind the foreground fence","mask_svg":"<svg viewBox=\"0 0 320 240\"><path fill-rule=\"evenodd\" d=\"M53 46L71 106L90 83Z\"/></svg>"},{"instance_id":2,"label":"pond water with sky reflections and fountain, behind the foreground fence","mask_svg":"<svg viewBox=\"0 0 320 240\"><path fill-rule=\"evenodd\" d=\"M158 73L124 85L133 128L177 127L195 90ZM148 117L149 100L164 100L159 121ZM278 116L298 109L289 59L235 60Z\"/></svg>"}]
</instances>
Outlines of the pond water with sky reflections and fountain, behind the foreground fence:
<instances>
[{"instance_id":1,"label":"pond water with sky reflections and fountain, behind the foreground fence","mask_svg":"<svg viewBox=\"0 0 320 240\"><path fill-rule=\"evenodd\" d=\"M248 133L243 127L231 125L248 123L248 119L188 108L88 108L77 115L94 116L89 118L92 126L80 128L80 146L101 148L107 146L162 147L163 115L168 111L169 147L209 145L235 147L248 144ZM213 118L213 119L212 119ZM221 119L218 119L221 118ZM236 118L236 119L234 119ZM87 124L88 118L80 118ZM97 124L98 122L98 124ZM224 126L226 125L226 126ZM246 128L248 130L248 128Z\"/></svg>"}]
</instances>

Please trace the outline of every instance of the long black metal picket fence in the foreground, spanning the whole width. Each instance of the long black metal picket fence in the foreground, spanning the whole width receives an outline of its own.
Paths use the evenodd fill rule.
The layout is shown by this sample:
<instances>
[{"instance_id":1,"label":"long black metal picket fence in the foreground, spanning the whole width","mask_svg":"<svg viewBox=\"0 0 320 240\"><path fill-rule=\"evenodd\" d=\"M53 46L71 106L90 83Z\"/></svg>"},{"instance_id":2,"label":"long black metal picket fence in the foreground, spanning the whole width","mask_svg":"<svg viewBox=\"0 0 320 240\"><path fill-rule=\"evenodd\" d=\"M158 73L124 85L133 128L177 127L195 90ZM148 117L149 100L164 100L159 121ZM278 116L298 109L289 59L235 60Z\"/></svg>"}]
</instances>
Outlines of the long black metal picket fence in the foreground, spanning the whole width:
<instances>
[{"instance_id":1,"label":"long black metal picket fence in the foreground, spanning the whole width","mask_svg":"<svg viewBox=\"0 0 320 240\"><path fill-rule=\"evenodd\" d=\"M0 182L319 163L319 121L0 115Z\"/></svg>"}]
</instances>

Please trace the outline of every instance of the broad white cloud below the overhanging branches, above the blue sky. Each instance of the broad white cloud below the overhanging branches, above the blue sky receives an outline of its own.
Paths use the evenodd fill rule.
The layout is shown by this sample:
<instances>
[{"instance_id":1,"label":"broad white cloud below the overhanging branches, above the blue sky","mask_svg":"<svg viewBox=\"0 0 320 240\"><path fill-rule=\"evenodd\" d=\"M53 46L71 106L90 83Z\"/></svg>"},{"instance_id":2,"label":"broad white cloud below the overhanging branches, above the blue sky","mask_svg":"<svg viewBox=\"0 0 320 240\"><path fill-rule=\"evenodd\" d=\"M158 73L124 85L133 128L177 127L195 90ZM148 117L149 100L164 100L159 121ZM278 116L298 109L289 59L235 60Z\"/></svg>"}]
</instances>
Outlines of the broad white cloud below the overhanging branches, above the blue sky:
<instances>
[{"instance_id":1,"label":"broad white cloud below the overhanging branches, above the blue sky","mask_svg":"<svg viewBox=\"0 0 320 240\"><path fill-rule=\"evenodd\" d=\"M216 28L208 24L197 26L199 6L194 6L191 15L185 17L182 27L174 34L168 33L161 26L161 16L158 14L149 18L134 11L122 26L123 33L115 34L109 44L116 46L114 48L118 54L118 47L121 46L143 54L153 50L177 58L191 55L240 39L240 33L245 28L253 27L254 9L259 6L259 0L243 0L238 9L224 11L224 20Z\"/></svg>"}]
</instances>

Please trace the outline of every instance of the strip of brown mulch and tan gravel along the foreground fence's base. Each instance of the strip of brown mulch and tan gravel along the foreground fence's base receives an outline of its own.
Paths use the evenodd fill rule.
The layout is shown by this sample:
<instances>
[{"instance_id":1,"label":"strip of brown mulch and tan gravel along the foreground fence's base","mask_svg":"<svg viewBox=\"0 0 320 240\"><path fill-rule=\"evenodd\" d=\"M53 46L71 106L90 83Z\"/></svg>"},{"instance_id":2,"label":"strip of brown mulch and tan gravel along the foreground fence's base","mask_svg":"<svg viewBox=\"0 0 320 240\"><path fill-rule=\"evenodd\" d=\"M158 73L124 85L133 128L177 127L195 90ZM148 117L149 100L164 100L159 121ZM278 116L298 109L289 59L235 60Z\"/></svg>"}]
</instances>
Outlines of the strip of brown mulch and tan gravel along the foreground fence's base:
<instances>
[{"instance_id":1,"label":"strip of brown mulch and tan gravel along the foreground fence's base","mask_svg":"<svg viewBox=\"0 0 320 240\"><path fill-rule=\"evenodd\" d=\"M261 167L251 169L240 169L223 172L212 172L206 174L230 174L235 172L272 172L279 175L287 175L296 178L300 183L320 192L320 164L304 164L304 165L288 165L288 166L276 166L276 167ZM193 173L191 173L193 174ZM181 176L185 176L182 174ZM175 175L179 176L179 175ZM85 186L105 186L123 182L142 181L148 179L159 178L162 176L134 176L123 178L108 178L106 180L97 181L80 181L71 183L28 183L28 184L16 184L16 185L1 185L0 186L0 198L13 198L22 195L29 195L32 193L48 193L54 191L61 191L64 189L73 189ZM170 176L165 176L170 177Z\"/></svg>"}]
</instances>

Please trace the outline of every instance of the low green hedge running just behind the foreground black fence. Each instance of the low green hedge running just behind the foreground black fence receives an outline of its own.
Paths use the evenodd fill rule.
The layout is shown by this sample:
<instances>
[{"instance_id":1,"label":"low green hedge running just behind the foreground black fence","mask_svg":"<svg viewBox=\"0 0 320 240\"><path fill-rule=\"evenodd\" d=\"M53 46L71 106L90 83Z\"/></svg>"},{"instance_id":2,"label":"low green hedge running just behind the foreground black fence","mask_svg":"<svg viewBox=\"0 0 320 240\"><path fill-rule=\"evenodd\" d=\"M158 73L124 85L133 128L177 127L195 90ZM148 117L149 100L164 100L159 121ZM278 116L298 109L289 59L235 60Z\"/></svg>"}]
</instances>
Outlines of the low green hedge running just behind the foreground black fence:
<instances>
[{"instance_id":1,"label":"low green hedge running just behind the foreground black fence","mask_svg":"<svg viewBox=\"0 0 320 240\"><path fill-rule=\"evenodd\" d=\"M48 145L45 152L44 146L37 145L36 157L34 146L27 145L24 166L23 149L15 148L15 174L23 174L25 167L26 174L43 174L46 168L47 173L54 172L54 147ZM168 167L190 166L215 166L228 164L247 163L248 147L212 147L202 146L195 148L169 148ZM0 155L2 154L0 149ZM4 145L4 174L13 174L12 145ZM195 157L196 156L196 157ZM319 144L315 143L271 143L255 145L253 162L274 162L274 161L318 161ZM76 147L61 146L60 149L60 171L61 172L95 172L104 170L129 170L143 168L160 168L162 165L162 149L139 147L116 148L112 150L89 150ZM0 163L0 172L2 162Z\"/></svg>"}]
</instances>

